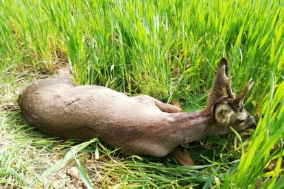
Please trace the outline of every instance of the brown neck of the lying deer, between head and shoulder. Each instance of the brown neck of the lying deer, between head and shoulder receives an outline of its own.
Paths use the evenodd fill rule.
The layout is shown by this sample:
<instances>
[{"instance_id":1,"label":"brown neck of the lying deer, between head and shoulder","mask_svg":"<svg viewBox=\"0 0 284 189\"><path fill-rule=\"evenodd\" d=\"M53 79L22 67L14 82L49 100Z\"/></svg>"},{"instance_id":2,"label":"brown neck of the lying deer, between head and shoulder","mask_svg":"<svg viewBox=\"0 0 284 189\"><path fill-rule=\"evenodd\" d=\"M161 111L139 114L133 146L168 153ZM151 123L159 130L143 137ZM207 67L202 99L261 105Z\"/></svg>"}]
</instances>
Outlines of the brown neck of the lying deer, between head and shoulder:
<instances>
[{"instance_id":1,"label":"brown neck of the lying deer, between head and shoulder","mask_svg":"<svg viewBox=\"0 0 284 189\"><path fill-rule=\"evenodd\" d=\"M199 140L213 125L209 108L200 112L171 114L171 136L175 137L178 145Z\"/></svg>"}]
</instances>

